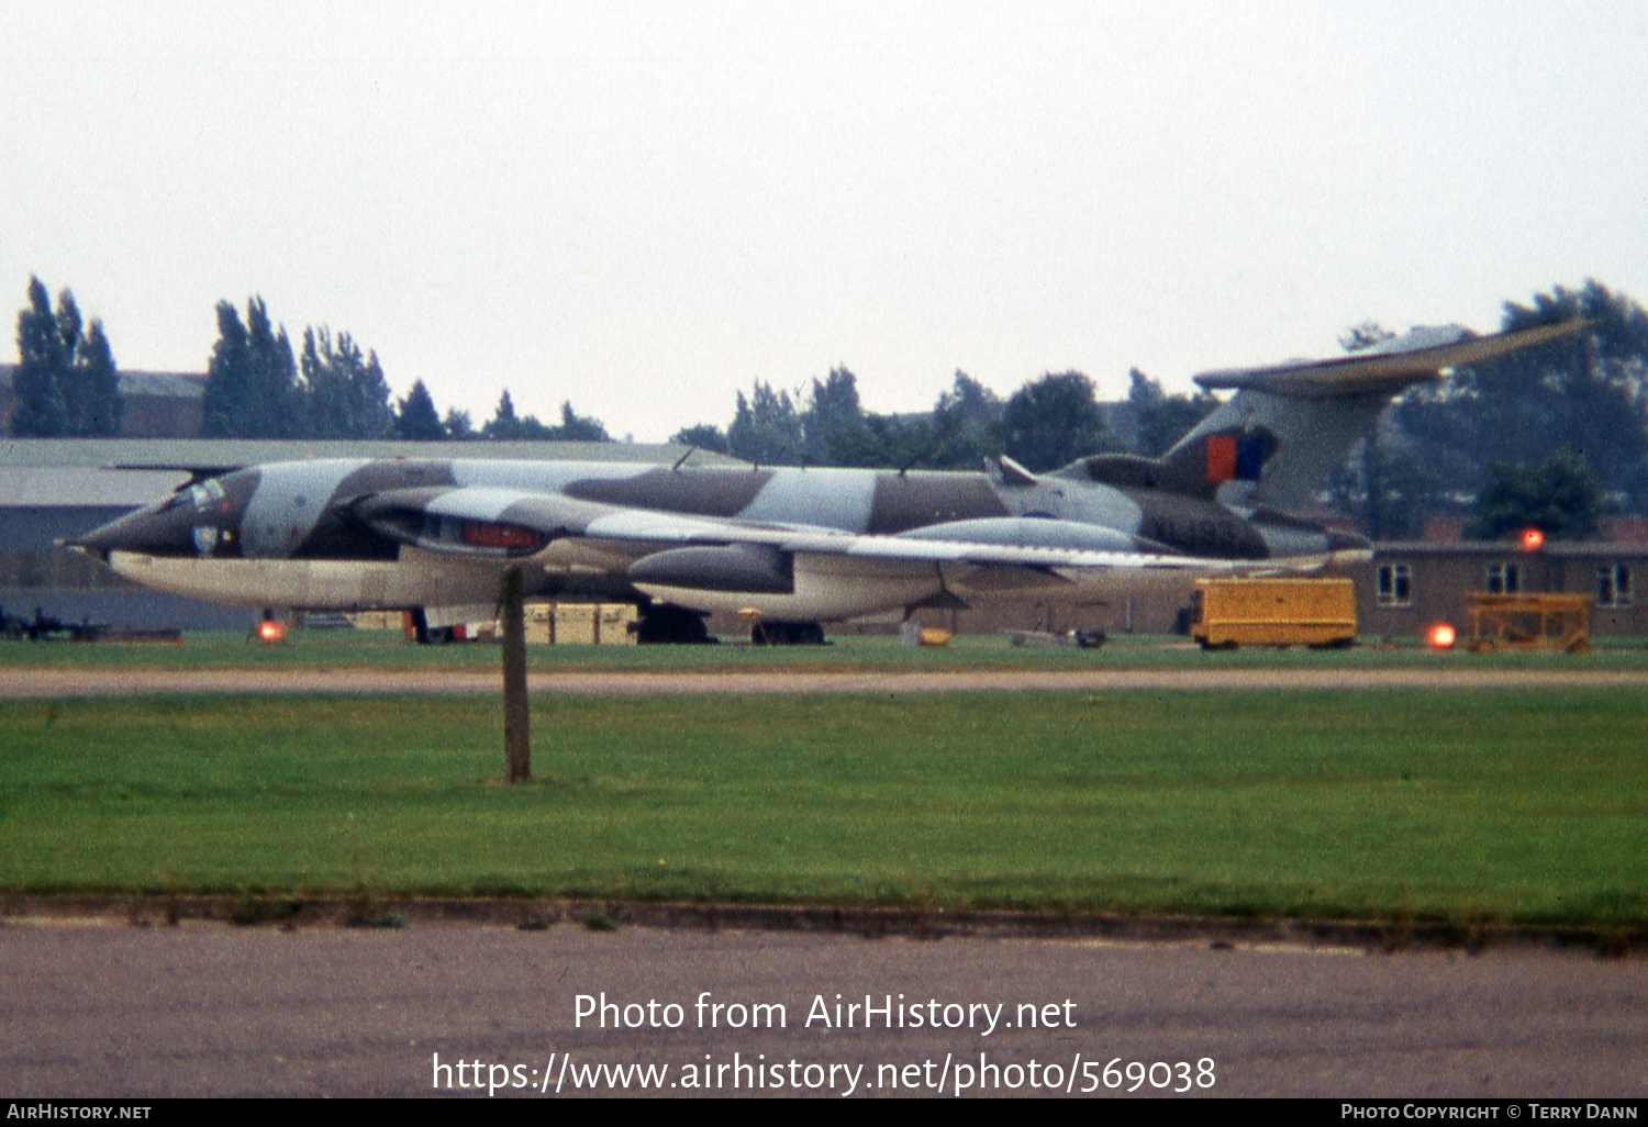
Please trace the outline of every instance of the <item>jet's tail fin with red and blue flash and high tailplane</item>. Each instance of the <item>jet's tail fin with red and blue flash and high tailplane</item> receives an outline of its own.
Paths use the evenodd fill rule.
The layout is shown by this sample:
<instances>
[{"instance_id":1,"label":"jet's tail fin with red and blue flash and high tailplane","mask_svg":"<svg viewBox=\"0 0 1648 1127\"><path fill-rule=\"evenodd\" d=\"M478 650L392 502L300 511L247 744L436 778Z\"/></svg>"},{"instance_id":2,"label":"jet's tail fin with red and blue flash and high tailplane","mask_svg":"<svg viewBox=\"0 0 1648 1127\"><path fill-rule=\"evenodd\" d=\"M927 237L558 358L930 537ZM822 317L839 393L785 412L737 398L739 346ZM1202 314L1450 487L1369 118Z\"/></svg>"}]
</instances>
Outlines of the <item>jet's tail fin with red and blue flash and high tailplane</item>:
<instances>
[{"instance_id":1,"label":"jet's tail fin with red and blue flash and high tailplane","mask_svg":"<svg viewBox=\"0 0 1648 1127\"><path fill-rule=\"evenodd\" d=\"M1236 394L1162 456L1163 476L1233 504L1297 507L1327 488L1401 390L1585 325L1574 320L1491 336L1458 326L1419 328L1337 359L1205 372L1198 384Z\"/></svg>"}]
</instances>

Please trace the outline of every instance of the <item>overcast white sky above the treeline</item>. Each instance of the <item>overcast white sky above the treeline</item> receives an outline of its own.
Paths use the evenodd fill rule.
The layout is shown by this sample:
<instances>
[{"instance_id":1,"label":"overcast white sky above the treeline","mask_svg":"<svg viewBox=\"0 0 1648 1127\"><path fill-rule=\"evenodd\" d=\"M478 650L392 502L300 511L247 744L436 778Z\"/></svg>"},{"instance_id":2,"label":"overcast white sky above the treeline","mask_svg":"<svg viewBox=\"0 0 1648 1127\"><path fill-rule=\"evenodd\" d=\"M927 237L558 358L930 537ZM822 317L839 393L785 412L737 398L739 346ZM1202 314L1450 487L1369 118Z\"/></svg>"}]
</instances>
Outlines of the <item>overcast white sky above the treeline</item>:
<instances>
[{"instance_id":1,"label":"overcast white sky above the treeline","mask_svg":"<svg viewBox=\"0 0 1648 1127\"><path fill-rule=\"evenodd\" d=\"M1648 300L1645 81L1640 2L0 0L0 315L38 274L203 371L259 293L397 395L639 440L834 364L1188 387Z\"/></svg>"}]
</instances>

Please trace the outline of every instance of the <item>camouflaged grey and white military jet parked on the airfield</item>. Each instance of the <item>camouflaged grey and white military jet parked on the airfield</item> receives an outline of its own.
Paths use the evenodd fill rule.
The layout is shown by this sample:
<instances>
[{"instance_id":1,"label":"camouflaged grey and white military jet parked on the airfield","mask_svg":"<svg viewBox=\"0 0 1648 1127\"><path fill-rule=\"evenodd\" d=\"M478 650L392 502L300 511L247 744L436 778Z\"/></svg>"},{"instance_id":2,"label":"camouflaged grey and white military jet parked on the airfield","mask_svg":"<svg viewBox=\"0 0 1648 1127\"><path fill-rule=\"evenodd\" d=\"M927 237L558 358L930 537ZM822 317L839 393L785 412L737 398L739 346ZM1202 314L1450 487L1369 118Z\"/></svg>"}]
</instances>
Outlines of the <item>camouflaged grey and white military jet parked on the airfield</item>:
<instances>
[{"instance_id":1,"label":"camouflaged grey and white military jet parked on the airfield","mask_svg":"<svg viewBox=\"0 0 1648 1127\"><path fill-rule=\"evenodd\" d=\"M575 461L325 460L198 468L73 542L145 587L264 608L410 610L420 634L529 596L633 601L643 641L743 611L778 641L821 623L999 600L1094 603L1220 573L1368 559L1289 516L1393 395L1579 328L1414 330L1325 361L1216 371L1236 394L1162 458L1053 473Z\"/></svg>"}]
</instances>

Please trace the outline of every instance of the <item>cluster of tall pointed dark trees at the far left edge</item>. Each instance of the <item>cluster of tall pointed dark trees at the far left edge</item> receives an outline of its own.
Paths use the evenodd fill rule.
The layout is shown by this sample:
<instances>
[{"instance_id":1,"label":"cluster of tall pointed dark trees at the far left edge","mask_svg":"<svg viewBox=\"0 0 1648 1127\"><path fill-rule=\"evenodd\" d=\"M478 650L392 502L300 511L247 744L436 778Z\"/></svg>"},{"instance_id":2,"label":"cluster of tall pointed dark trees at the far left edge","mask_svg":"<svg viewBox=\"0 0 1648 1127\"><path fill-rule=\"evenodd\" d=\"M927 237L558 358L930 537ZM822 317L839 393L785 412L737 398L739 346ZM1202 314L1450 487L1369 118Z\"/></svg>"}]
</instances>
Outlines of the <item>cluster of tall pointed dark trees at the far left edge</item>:
<instances>
[{"instance_id":1,"label":"cluster of tall pointed dark trees at the far left edge","mask_svg":"<svg viewBox=\"0 0 1648 1127\"><path fill-rule=\"evenodd\" d=\"M104 438L120 433L114 351L102 321L86 325L74 295L51 295L28 280L28 305L16 315L18 364L12 377L12 433L18 438Z\"/></svg>"}]
</instances>

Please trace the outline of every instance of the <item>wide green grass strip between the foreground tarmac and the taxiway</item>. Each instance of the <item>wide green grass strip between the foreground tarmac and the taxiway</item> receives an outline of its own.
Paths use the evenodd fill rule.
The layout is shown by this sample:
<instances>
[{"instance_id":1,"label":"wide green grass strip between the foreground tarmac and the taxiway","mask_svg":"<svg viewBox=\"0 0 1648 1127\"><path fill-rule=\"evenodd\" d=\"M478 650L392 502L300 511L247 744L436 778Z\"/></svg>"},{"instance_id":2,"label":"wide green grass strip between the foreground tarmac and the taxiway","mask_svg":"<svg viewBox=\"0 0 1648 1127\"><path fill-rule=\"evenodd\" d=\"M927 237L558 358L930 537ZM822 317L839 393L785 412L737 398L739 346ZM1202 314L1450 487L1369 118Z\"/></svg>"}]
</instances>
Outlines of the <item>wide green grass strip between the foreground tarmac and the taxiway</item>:
<instances>
[{"instance_id":1,"label":"wide green grass strip between the foreground tarmac and the taxiway","mask_svg":"<svg viewBox=\"0 0 1648 1127\"><path fill-rule=\"evenodd\" d=\"M488 699L0 723L0 891L1648 923L1635 692L541 697L516 788Z\"/></svg>"}]
</instances>

